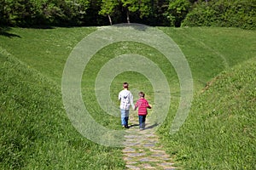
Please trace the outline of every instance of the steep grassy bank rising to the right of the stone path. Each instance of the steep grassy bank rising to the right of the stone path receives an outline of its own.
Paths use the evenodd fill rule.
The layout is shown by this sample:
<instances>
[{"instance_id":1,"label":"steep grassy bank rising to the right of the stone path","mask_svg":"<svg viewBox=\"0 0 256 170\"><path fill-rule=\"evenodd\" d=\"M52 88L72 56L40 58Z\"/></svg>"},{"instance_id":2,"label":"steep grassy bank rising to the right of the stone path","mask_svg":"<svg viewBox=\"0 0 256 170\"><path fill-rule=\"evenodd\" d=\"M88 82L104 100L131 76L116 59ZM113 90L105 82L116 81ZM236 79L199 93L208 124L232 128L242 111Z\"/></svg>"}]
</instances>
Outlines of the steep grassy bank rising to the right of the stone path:
<instances>
[{"instance_id":1,"label":"steep grassy bank rising to the right of the stone path","mask_svg":"<svg viewBox=\"0 0 256 170\"><path fill-rule=\"evenodd\" d=\"M188 169L255 169L256 58L212 80L165 144ZM163 131L166 132L166 129Z\"/></svg>"}]
</instances>

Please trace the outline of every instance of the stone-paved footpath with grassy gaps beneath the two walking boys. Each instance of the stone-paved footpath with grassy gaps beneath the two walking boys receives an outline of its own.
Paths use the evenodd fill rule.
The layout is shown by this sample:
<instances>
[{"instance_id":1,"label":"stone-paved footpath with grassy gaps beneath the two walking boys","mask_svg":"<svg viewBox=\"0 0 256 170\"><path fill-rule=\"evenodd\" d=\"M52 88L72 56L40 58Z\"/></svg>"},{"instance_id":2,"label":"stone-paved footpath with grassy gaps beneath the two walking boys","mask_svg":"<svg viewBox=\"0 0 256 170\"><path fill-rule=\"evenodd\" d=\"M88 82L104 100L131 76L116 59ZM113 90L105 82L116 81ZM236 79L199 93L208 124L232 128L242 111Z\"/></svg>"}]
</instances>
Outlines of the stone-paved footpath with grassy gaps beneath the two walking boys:
<instances>
[{"instance_id":1,"label":"stone-paved footpath with grassy gaps beneath the two walking boys","mask_svg":"<svg viewBox=\"0 0 256 170\"><path fill-rule=\"evenodd\" d=\"M142 131L138 127L138 116L130 114L130 128L125 130L125 149L123 150L126 169L164 169L174 170L172 158L166 154L154 134L154 125L146 119L146 128Z\"/></svg>"}]
</instances>

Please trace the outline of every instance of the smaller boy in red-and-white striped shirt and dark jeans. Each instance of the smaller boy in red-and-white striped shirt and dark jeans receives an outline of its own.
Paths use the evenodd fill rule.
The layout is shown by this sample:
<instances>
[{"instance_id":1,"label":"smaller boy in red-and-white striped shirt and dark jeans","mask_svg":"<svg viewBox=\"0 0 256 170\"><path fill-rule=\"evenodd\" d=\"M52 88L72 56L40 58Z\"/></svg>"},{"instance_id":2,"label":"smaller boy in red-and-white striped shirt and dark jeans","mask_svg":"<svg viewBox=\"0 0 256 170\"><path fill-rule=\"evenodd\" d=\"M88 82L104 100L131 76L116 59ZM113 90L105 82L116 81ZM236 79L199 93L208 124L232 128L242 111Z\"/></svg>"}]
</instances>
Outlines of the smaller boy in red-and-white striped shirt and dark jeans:
<instances>
[{"instance_id":1,"label":"smaller boy in red-and-white striped shirt and dark jeans","mask_svg":"<svg viewBox=\"0 0 256 170\"><path fill-rule=\"evenodd\" d=\"M151 105L148 105L148 100L145 99L145 94L143 92L139 93L140 99L137 100L137 103L135 104L134 111L137 110L138 107L138 116L139 116L139 124L140 124L140 130L145 129L145 122L146 122L146 116L148 115L148 109L151 109Z\"/></svg>"}]
</instances>

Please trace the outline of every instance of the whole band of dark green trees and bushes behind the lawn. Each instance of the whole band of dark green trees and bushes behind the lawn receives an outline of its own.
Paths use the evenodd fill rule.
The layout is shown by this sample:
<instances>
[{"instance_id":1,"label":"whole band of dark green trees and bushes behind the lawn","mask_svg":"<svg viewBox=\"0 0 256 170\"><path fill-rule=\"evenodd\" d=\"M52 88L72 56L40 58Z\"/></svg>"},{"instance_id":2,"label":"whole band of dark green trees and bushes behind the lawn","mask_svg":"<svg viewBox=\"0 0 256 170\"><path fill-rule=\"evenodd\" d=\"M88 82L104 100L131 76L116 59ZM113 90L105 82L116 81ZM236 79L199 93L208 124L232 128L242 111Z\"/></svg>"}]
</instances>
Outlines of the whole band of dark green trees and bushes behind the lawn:
<instances>
[{"instance_id":1,"label":"whole band of dark green trees and bushes behind the lawn","mask_svg":"<svg viewBox=\"0 0 256 170\"><path fill-rule=\"evenodd\" d=\"M256 0L0 0L0 26L255 28Z\"/></svg>"}]
</instances>

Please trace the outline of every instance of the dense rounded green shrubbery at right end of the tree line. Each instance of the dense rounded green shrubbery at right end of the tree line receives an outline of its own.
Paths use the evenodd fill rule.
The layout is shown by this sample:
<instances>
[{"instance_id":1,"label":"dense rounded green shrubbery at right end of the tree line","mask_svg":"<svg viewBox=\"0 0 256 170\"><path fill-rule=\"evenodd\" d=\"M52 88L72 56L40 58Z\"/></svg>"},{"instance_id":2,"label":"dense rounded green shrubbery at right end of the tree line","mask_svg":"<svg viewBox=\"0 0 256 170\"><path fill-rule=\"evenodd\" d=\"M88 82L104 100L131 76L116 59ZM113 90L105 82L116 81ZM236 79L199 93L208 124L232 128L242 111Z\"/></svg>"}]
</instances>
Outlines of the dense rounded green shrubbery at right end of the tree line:
<instances>
[{"instance_id":1,"label":"dense rounded green shrubbery at right end of the tree line","mask_svg":"<svg viewBox=\"0 0 256 170\"><path fill-rule=\"evenodd\" d=\"M183 26L225 26L255 29L256 0L219 0L196 3Z\"/></svg>"}]
</instances>

